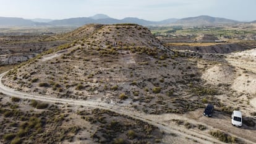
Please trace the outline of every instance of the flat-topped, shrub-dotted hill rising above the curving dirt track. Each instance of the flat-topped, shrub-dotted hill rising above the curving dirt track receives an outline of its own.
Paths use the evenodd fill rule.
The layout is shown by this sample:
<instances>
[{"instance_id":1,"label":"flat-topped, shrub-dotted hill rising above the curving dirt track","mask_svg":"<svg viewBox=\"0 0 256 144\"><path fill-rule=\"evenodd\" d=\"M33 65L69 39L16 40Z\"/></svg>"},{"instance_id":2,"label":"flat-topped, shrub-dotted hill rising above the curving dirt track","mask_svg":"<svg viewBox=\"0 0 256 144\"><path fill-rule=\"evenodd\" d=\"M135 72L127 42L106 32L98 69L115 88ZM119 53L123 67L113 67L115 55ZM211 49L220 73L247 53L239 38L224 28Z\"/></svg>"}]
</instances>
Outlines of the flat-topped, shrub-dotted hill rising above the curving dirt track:
<instances>
[{"instance_id":1,"label":"flat-topped, shrub-dotted hill rising above the curving dirt track","mask_svg":"<svg viewBox=\"0 0 256 144\"><path fill-rule=\"evenodd\" d=\"M4 83L58 98L113 103L127 99L126 103L134 106L147 103L137 107L147 113L187 111L178 101L193 105L193 109L202 106L200 101L187 100L190 92L183 90L187 83L194 83L194 87L200 83L195 61L165 48L147 28L134 24L86 25L72 36L80 39L17 67ZM166 102L155 109L162 99Z\"/></svg>"}]
</instances>

